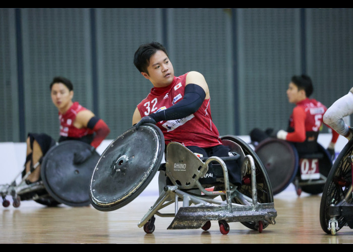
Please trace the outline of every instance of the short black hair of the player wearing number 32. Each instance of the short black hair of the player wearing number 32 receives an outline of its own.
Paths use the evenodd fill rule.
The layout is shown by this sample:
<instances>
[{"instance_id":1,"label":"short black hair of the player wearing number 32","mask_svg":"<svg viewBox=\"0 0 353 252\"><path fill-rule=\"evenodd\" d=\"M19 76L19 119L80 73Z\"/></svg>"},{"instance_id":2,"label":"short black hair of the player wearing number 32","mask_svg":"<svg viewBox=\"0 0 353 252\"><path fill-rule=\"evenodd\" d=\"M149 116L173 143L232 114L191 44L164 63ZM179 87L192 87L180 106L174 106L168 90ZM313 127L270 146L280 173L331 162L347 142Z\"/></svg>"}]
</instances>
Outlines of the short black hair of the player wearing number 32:
<instances>
[{"instance_id":1,"label":"short black hair of the player wearing number 32","mask_svg":"<svg viewBox=\"0 0 353 252\"><path fill-rule=\"evenodd\" d=\"M163 51L167 57L168 53L165 47L156 41L147 43L147 44L142 44L139 46L139 48L136 50L135 55L134 55L134 65L135 67L143 73L147 73L147 67L150 63L150 58L151 56L156 53L156 51L161 50Z\"/></svg>"}]
</instances>

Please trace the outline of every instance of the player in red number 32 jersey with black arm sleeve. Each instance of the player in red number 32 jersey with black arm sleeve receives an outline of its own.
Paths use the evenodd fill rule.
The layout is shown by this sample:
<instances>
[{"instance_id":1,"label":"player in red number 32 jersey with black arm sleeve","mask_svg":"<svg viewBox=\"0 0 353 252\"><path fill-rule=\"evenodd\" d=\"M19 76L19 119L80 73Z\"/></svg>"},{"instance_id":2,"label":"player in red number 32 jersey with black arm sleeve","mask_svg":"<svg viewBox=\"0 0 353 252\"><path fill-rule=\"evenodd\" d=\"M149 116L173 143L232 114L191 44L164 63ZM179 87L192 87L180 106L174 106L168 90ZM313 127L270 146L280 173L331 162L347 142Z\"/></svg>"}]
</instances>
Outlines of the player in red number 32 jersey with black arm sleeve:
<instances>
[{"instance_id":1,"label":"player in red number 32 jersey with black arm sleeve","mask_svg":"<svg viewBox=\"0 0 353 252\"><path fill-rule=\"evenodd\" d=\"M132 123L136 129L153 123L161 129L166 145L181 143L201 157L233 156L222 145L212 121L210 92L202 74L192 71L174 76L168 53L158 42L141 45L135 52L134 64L153 85L135 109ZM229 181L241 185L240 166L231 161L225 164Z\"/></svg>"}]
</instances>

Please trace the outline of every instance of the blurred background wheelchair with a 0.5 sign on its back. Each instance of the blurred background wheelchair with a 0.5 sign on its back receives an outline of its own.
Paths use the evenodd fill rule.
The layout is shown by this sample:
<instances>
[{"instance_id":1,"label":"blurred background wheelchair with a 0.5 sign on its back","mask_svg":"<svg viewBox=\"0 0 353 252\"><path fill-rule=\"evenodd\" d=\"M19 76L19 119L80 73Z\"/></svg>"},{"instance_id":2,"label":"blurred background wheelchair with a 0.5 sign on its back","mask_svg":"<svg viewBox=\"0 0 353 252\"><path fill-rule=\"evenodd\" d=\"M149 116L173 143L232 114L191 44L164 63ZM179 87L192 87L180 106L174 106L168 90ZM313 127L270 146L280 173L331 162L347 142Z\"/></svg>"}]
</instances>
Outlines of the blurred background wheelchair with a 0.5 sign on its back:
<instances>
[{"instance_id":1,"label":"blurred background wheelchair with a 0.5 sign on its back","mask_svg":"<svg viewBox=\"0 0 353 252\"><path fill-rule=\"evenodd\" d=\"M330 172L332 161L327 150L317 143L317 151L300 153L290 142L267 138L255 146L255 153L265 166L273 195L290 184L302 192L320 194Z\"/></svg>"}]
</instances>

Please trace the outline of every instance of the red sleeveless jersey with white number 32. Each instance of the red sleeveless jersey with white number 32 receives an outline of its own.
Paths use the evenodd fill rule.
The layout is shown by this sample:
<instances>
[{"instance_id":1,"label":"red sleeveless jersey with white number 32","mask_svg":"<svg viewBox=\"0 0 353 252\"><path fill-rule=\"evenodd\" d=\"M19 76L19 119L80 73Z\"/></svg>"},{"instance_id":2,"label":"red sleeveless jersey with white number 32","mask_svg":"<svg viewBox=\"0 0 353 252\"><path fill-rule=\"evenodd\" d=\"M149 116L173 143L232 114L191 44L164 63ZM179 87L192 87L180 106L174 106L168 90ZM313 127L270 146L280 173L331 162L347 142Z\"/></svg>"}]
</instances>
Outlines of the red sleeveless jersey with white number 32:
<instances>
[{"instance_id":1,"label":"red sleeveless jersey with white number 32","mask_svg":"<svg viewBox=\"0 0 353 252\"><path fill-rule=\"evenodd\" d=\"M173 82L163 88L153 87L137 108L141 117L167 109L184 97L187 74L174 77ZM177 120L156 123L164 135L164 142L178 142L184 146L208 148L221 145L219 133L212 121L210 99L205 99L193 114Z\"/></svg>"}]
</instances>

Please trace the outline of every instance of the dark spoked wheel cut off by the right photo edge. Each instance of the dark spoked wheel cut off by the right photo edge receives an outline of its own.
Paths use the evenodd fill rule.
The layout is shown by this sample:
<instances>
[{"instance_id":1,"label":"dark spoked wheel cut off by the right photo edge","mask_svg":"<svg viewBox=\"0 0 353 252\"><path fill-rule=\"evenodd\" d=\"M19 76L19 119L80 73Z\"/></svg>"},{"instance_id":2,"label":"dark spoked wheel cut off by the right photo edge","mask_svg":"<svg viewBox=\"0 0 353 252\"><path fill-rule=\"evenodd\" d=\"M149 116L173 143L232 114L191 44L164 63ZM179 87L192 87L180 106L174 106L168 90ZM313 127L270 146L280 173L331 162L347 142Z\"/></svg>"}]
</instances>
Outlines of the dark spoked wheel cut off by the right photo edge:
<instances>
[{"instance_id":1,"label":"dark spoked wheel cut off by the right photo edge","mask_svg":"<svg viewBox=\"0 0 353 252\"><path fill-rule=\"evenodd\" d=\"M337 205L346 195L348 187L352 184L352 170L351 165L347 161L347 157L353 155L353 139L350 140L339 153L335 160L323 188L320 203L320 225L324 232L331 233L328 229L328 222L330 220L329 206ZM347 203L352 204L352 198L349 197ZM344 217L338 216L338 227L341 229L347 222Z\"/></svg>"}]
</instances>

